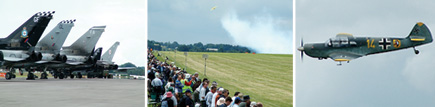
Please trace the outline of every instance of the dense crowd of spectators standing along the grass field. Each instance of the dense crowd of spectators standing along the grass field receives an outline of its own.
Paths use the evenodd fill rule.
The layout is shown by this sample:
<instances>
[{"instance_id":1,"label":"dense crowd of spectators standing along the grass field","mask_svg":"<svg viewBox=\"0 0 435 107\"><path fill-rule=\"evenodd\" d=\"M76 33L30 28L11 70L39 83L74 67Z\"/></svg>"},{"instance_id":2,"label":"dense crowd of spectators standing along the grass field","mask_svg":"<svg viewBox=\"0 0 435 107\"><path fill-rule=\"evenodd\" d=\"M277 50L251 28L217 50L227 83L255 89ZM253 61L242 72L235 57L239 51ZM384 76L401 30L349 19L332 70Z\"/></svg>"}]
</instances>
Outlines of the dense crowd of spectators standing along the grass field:
<instances>
[{"instance_id":1,"label":"dense crowd of spectators standing along the grass field","mask_svg":"<svg viewBox=\"0 0 435 107\"><path fill-rule=\"evenodd\" d=\"M160 56L160 54L157 54ZM157 60L148 50L148 94L156 95L161 107L262 107L251 101L249 95L230 91L216 81L200 78L196 72L189 74L174 62Z\"/></svg>"}]
</instances>

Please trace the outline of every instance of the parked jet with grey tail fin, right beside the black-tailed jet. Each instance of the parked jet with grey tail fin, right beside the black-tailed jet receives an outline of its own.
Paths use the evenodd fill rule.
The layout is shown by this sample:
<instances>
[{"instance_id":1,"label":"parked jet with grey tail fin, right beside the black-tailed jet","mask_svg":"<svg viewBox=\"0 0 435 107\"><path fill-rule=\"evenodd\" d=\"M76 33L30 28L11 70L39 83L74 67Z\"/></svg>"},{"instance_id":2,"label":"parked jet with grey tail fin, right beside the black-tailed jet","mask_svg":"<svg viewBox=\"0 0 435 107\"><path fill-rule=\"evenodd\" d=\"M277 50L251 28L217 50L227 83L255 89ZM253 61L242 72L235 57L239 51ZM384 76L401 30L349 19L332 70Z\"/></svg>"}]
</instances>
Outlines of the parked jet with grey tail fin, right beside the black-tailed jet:
<instances>
[{"instance_id":1,"label":"parked jet with grey tail fin, right beside the black-tailed jet","mask_svg":"<svg viewBox=\"0 0 435 107\"><path fill-rule=\"evenodd\" d=\"M75 20L64 20L59 22L44 38L35 46L35 51L42 54L42 59L36 62L23 62L13 64L13 68L25 68L29 71L27 79L34 80L35 76L32 70L43 71L46 64L64 63L67 60L66 55L60 55L60 49L65 43L65 39L74 26ZM20 70L20 74L22 75ZM47 73L43 71L41 79L47 79Z\"/></svg>"}]
</instances>

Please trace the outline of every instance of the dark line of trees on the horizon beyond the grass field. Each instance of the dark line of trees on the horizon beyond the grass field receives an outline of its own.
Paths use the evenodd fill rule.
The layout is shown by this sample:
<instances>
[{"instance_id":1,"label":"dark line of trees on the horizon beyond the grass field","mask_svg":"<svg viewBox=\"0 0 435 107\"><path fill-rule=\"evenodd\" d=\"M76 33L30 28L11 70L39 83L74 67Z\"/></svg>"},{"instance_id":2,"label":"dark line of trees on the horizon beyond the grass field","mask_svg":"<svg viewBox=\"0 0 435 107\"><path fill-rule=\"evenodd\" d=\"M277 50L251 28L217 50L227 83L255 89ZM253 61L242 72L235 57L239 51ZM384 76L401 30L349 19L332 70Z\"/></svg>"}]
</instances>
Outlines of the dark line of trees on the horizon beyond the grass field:
<instances>
[{"instance_id":1,"label":"dark line of trees on the horizon beyond the grass field","mask_svg":"<svg viewBox=\"0 0 435 107\"><path fill-rule=\"evenodd\" d=\"M174 42L156 42L148 40L148 48L158 51L184 51L184 52L226 52L226 53L251 53L252 51L244 46L229 45L229 44L202 44L201 42L194 44L178 44Z\"/></svg>"}]
</instances>

